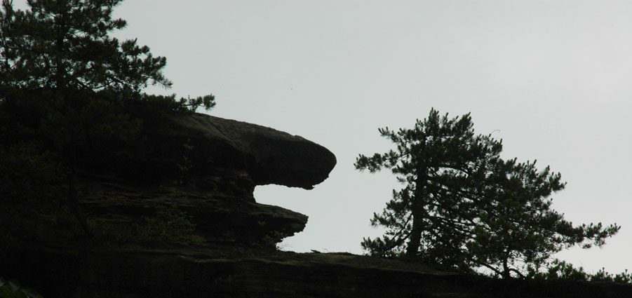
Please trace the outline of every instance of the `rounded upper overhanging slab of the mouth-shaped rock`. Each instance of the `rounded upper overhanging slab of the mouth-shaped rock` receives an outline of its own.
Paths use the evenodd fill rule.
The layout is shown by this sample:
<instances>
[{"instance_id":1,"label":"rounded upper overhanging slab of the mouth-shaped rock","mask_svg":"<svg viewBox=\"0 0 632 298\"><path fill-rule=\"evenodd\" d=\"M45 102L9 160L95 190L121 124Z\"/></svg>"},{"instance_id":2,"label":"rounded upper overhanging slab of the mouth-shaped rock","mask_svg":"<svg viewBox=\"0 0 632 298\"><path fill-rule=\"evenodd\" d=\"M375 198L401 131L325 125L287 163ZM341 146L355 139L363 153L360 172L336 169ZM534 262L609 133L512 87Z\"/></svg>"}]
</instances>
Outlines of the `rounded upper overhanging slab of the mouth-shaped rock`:
<instances>
[{"instance_id":1,"label":"rounded upper overhanging slab of the mouth-shaped rock","mask_svg":"<svg viewBox=\"0 0 632 298\"><path fill-rule=\"evenodd\" d=\"M239 168L255 185L312 189L336 164L328 149L297 135L224 118L194 114L173 118L174 137L191 140L199 162L210 171Z\"/></svg>"}]
</instances>

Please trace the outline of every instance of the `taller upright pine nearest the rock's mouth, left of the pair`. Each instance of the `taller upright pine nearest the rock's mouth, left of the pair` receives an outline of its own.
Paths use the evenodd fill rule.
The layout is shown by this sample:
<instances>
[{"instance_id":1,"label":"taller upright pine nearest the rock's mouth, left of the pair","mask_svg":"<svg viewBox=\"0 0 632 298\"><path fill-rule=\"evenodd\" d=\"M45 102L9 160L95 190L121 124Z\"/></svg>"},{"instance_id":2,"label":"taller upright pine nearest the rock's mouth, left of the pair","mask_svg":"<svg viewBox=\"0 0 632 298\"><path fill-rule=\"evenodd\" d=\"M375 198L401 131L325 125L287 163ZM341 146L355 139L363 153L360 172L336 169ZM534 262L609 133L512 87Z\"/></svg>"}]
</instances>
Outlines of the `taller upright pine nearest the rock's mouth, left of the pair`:
<instances>
[{"instance_id":1,"label":"taller upright pine nearest the rock's mouth, left of the pair","mask_svg":"<svg viewBox=\"0 0 632 298\"><path fill-rule=\"evenodd\" d=\"M363 247L373 255L401 255L405 248L408 257L424 253L438 262L457 262L454 258L466 241L457 233L459 219L474 216L473 202L463 200L463 194L480 182L481 169L497 158L501 142L474 135L469 114L450 119L435 109L424 121L417 120L415 128L382 128L379 133L396 143L397 151L361 155L356 169L391 168L405 187L394 190L382 215L372 219L389 231L382 239L365 239Z\"/></svg>"}]
</instances>

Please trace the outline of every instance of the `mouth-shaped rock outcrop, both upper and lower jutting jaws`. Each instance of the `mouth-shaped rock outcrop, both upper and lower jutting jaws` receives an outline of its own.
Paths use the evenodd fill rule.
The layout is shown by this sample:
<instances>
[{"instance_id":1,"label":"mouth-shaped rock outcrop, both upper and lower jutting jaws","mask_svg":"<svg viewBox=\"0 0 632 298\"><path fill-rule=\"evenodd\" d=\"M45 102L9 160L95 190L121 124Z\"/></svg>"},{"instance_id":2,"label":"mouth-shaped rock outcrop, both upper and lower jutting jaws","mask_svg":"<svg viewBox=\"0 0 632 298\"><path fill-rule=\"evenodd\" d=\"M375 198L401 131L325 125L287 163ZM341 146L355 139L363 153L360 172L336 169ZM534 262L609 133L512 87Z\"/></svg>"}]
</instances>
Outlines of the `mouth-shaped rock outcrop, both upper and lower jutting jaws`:
<instances>
[{"instance_id":1,"label":"mouth-shaped rock outcrop, both upper and lower jutting jaws","mask_svg":"<svg viewBox=\"0 0 632 298\"><path fill-rule=\"evenodd\" d=\"M187 212L208 241L278 242L302 231L307 216L256 203L255 186L311 189L336 163L328 149L272 128L206 114L163 120L144 131L147 141L133 144L136 152L128 153L148 155L149 162L128 163L135 168L126 170L152 172L156 180L130 181L126 173L97 174L89 167L81 171L79 201L93 220L130 226L151 216L156 206L170 205Z\"/></svg>"}]
</instances>

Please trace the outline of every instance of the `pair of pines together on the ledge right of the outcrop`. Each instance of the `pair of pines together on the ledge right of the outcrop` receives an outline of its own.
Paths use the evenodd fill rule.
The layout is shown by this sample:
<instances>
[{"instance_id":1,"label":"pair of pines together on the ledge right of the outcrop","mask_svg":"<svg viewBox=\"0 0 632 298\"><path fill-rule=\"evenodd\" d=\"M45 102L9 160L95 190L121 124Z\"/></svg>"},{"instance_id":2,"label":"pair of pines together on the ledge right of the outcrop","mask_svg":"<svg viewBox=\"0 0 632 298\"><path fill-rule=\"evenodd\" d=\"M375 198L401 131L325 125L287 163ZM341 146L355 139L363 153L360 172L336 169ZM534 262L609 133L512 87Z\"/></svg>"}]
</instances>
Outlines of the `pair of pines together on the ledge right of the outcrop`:
<instances>
[{"instance_id":1,"label":"pair of pines together on the ledge right of the outcrop","mask_svg":"<svg viewBox=\"0 0 632 298\"><path fill-rule=\"evenodd\" d=\"M432 109L412 129L379 133L396 150L360 155L356 169L389 168L404 187L373 215L371 223L387 230L382 238L364 238L371 255L485 268L509 278L573 245L603 245L619 230L565 221L549 197L565 187L560 174L537 170L535 161L504 161L502 140L475 135L470 114L449 118Z\"/></svg>"}]
</instances>

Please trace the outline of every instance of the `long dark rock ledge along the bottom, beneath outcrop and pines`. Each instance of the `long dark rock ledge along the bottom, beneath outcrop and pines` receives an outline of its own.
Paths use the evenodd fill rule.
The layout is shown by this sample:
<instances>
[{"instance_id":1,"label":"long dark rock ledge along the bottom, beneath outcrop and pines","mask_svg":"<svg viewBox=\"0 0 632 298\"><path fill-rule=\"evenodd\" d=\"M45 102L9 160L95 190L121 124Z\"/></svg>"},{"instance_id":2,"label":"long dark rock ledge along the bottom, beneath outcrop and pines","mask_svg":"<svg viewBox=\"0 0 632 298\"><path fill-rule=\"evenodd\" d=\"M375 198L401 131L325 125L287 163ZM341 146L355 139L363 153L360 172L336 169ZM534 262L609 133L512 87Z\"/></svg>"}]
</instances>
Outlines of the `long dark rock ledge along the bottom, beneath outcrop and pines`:
<instances>
[{"instance_id":1,"label":"long dark rock ledge along the bottom, beneath outcrop and pines","mask_svg":"<svg viewBox=\"0 0 632 298\"><path fill-rule=\"evenodd\" d=\"M577 298L632 293L630 285L497 280L348 254L226 253L217 248L27 248L5 256L8 267L1 271L18 269L11 271L14 276L48 292L45 297Z\"/></svg>"}]
</instances>

